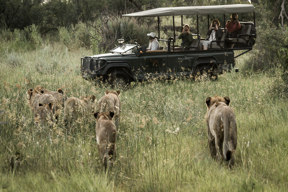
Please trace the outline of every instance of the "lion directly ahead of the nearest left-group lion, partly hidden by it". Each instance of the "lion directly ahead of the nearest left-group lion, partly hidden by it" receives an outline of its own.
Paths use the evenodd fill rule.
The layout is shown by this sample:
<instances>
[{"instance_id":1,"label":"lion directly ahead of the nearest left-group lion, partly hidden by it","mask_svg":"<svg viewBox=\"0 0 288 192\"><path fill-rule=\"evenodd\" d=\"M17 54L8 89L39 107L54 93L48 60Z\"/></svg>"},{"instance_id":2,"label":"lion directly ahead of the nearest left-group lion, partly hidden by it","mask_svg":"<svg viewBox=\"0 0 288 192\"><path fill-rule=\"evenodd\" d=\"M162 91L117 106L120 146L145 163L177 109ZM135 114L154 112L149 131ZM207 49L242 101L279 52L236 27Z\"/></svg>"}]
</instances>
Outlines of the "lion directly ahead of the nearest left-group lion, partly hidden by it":
<instances>
[{"instance_id":1,"label":"lion directly ahead of the nearest left-group lion, partly hidden by it","mask_svg":"<svg viewBox=\"0 0 288 192\"><path fill-rule=\"evenodd\" d=\"M120 124L120 112L121 112L121 101L119 95L121 94L120 90L117 91L105 91L105 95L101 97L98 101L97 107L98 110L102 113L108 113L108 111L115 111L114 120L115 125L118 128Z\"/></svg>"}]
</instances>

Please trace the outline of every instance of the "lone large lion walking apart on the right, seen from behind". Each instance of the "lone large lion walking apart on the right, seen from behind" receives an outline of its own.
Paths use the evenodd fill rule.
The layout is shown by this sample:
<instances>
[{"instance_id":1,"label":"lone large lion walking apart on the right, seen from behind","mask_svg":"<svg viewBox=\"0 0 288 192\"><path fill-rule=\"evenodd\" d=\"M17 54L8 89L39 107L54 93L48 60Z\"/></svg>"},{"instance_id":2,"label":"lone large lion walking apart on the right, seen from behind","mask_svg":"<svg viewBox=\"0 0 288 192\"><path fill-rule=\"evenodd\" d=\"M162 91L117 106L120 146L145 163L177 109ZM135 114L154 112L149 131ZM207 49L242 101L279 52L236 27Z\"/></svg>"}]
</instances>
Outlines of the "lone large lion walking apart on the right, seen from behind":
<instances>
[{"instance_id":1,"label":"lone large lion walking apart on the right, seen from behind","mask_svg":"<svg viewBox=\"0 0 288 192\"><path fill-rule=\"evenodd\" d=\"M229 167L234 165L235 150L237 146L237 124L236 117L231 107L229 97L208 97L206 123L208 132L208 145L212 157L218 155L229 161Z\"/></svg>"}]
</instances>

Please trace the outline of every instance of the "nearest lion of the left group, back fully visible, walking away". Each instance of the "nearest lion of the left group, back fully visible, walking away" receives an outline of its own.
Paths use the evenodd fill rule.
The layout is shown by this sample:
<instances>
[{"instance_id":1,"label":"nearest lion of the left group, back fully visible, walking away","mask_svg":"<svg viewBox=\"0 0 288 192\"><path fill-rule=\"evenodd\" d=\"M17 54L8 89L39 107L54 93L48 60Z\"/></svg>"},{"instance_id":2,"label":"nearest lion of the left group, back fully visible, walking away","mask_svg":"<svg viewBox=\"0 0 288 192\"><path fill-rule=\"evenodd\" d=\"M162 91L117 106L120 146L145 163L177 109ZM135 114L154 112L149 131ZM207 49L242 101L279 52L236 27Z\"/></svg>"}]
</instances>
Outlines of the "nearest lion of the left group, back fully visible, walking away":
<instances>
[{"instance_id":1,"label":"nearest lion of the left group, back fully visible, walking away","mask_svg":"<svg viewBox=\"0 0 288 192\"><path fill-rule=\"evenodd\" d=\"M108 113L95 112L94 117L97 121L95 128L97 148L100 156L100 160L103 166L114 165L114 158L116 155L116 126L114 125L112 118L114 116L114 111L109 111Z\"/></svg>"}]
</instances>

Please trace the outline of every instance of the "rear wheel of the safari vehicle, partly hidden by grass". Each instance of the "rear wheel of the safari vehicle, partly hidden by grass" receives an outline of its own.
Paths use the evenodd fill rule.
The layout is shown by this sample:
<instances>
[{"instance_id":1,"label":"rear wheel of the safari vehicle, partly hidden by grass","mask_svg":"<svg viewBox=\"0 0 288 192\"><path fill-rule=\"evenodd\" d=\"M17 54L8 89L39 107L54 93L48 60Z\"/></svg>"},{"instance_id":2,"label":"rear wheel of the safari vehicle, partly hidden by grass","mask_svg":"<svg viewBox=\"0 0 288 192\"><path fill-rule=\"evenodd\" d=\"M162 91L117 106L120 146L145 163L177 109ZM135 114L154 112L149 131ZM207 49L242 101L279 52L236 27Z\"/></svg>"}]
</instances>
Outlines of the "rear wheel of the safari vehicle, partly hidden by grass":
<instances>
[{"instance_id":1,"label":"rear wheel of the safari vehicle, partly hidden by grass","mask_svg":"<svg viewBox=\"0 0 288 192\"><path fill-rule=\"evenodd\" d=\"M217 81L217 79L218 79L218 73L214 67L200 66L200 67L197 67L194 72L195 81L199 81L199 80Z\"/></svg>"}]
</instances>

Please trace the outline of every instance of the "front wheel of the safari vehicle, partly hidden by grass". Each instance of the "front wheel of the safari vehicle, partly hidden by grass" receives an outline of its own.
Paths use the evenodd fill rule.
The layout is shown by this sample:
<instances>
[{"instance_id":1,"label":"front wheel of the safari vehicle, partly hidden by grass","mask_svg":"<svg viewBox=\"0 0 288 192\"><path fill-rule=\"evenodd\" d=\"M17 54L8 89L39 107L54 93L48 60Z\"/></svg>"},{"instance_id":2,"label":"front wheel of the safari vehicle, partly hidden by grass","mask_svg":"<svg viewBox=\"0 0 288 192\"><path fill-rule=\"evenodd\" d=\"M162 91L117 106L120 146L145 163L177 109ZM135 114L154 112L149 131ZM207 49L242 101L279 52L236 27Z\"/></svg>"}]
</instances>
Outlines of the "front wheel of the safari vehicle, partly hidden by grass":
<instances>
[{"instance_id":1,"label":"front wheel of the safari vehicle, partly hidden by grass","mask_svg":"<svg viewBox=\"0 0 288 192\"><path fill-rule=\"evenodd\" d=\"M129 76L125 71L112 71L111 75L107 76L107 82L113 89L125 89L130 84Z\"/></svg>"}]
</instances>

